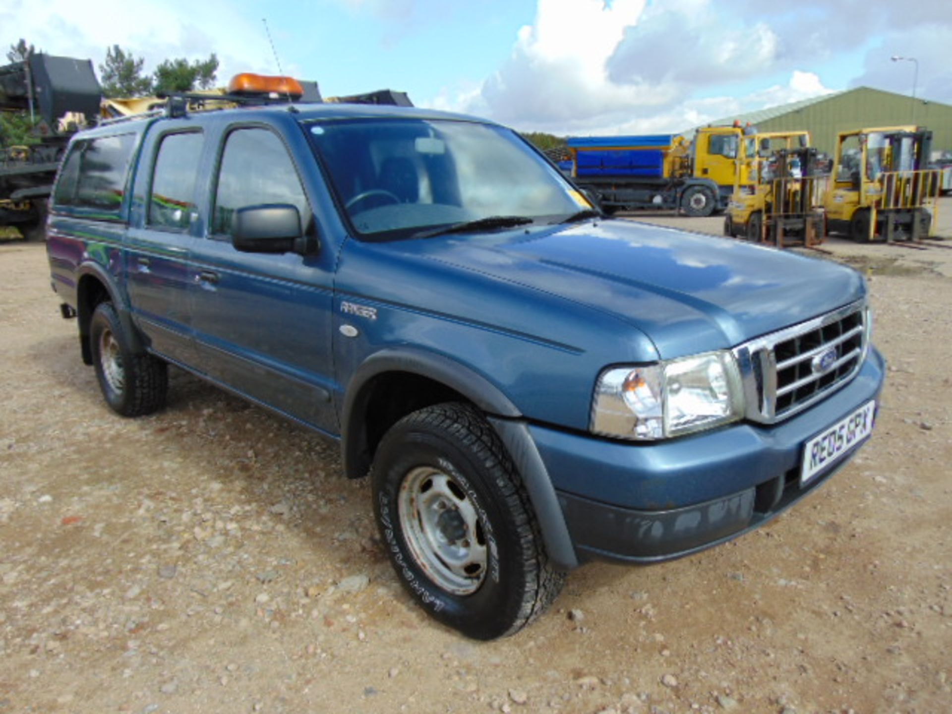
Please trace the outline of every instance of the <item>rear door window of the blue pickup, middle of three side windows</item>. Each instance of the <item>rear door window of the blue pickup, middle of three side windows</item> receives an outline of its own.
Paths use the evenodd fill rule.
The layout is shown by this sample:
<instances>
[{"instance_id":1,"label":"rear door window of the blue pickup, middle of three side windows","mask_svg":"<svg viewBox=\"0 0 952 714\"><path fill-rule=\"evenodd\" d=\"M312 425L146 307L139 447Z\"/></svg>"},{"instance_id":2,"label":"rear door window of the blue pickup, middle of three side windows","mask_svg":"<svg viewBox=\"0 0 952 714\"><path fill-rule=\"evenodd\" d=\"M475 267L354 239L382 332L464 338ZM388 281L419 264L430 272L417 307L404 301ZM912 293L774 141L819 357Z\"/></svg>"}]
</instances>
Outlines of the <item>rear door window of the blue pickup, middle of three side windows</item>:
<instances>
[{"instance_id":1,"label":"rear door window of the blue pickup, middle of three side windows","mask_svg":"<svg viewBox=\"0 0 952 714\"><path fill-rule=\"evenodd\" d=\"M152 170L147 223L153 228L185 230L195 208L195 178L202 158L202 134L169 134L159 144Z\"/></svg>"}]
</instances>

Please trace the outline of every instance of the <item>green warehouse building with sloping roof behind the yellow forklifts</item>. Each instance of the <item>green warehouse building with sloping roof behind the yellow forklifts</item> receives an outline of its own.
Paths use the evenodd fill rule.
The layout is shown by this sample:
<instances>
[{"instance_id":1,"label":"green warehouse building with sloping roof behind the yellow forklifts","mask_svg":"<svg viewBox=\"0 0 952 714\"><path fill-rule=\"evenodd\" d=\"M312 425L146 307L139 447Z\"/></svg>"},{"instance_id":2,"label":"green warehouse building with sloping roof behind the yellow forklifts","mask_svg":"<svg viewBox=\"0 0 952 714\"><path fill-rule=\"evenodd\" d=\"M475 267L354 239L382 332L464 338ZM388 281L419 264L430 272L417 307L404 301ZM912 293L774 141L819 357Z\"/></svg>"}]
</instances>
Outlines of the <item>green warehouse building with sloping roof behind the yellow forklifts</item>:
<instances>
[{"instance_id":1,"label":"green warehouse building with sloping roof behind the yellow forklifts","mask_svg":"<svg viewBox=\"0 0 952 714\"><path fill-rule=\"evenodd\" d=\"M917 124L932 130L932 151L952 150L952 106L896 94L882 89L858 87L824 94L780 107L748 111L711 122L714 127L734 121L749 123L758 131L806 129L817 149L832 155L841 131L864 127L895 127Z\"/></svg>"}]
</instances>

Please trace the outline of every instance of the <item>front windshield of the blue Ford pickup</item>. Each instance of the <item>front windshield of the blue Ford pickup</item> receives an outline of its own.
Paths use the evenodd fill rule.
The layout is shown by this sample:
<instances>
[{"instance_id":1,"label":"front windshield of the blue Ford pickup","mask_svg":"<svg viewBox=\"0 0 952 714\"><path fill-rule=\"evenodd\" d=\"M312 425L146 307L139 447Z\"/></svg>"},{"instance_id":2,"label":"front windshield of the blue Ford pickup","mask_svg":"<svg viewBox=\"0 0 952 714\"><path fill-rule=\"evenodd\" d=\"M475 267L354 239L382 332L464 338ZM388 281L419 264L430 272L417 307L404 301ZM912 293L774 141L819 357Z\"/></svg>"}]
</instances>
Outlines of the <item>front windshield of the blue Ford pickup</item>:
<instances>
[{"instance_id":1,"label":"front windshield of the blue Ford pickup","mask_svg":"<svg viewBox=\"0 0 952 714\"><path fill-rule=\"evenodd\" d=\"M361 118L305 125L353 227L375 240L564 220L588 202L509 129ZM484 219L504 219L485 221Z\"/></svg>"}]
</instances>

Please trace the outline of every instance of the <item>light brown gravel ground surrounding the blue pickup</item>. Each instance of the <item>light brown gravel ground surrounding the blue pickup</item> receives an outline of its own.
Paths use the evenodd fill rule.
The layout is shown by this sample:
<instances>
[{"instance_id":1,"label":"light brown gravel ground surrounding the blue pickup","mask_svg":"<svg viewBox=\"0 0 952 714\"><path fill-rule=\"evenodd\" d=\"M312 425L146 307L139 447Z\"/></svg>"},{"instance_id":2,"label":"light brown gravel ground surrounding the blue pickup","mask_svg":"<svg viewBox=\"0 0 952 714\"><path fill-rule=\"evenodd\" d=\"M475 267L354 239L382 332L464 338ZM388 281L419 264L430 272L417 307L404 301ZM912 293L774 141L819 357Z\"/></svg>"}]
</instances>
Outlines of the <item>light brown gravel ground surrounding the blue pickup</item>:
<instances>
[{"instance_id":1,"label":"light brown gravel ground surrounding the blue pickup","mask_svg":"<svg viewBox=\"0 0 952 714\"><path fill-rule=\"evenodd\" d=\"M334 446L179 371L165 411L113 415L43 247L0 245L0 714L949 711L952 250L823 248L871 274L890 361L861 455L477 644L404 594Z\"/></svg>"}]
</instances>

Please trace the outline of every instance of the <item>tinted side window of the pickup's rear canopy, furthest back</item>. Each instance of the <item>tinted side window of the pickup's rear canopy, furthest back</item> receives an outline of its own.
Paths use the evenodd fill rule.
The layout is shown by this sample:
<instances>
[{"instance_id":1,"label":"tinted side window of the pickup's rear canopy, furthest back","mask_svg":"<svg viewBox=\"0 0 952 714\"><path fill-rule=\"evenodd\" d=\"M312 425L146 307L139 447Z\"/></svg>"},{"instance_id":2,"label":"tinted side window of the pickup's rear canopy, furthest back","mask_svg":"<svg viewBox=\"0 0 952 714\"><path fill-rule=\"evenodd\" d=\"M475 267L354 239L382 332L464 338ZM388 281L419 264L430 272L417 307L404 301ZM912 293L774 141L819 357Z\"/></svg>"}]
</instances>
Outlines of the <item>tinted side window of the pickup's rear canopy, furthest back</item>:
<instances>
[{"instance_id":1,"label":"tinted side window of the pickup's rear canopy, furthest back","mask_svg":"<svg viewBox=\"0 0 952 714\"><path fill-rule=\"evenodd\" d=\"M116 218L126 195L135 134L78 142L61 171L55 206L88 208L96 218Z\"/></svg>"}]
</instances>

